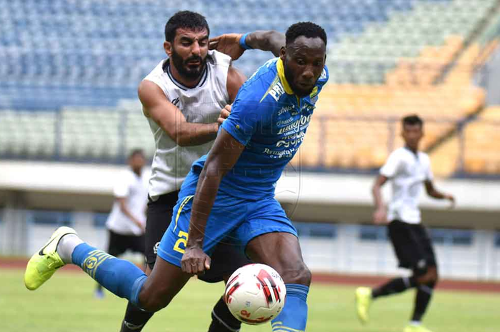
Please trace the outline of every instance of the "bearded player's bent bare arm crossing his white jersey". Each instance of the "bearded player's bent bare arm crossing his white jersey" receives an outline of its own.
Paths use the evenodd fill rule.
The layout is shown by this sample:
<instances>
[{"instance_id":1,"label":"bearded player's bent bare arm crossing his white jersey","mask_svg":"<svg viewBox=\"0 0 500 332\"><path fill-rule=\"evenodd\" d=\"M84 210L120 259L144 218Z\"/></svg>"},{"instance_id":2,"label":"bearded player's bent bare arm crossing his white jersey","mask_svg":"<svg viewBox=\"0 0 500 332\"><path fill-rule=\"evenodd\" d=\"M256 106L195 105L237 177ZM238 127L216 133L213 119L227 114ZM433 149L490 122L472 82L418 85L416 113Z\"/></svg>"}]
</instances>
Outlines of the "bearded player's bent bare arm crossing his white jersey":
<instances>
[{"instance_id":1,"label":"bearded player's bent bare arm crossing his white jersey","mask_svg":"<svg viewBox=\"0 0 500 332\"><path fill-rule=\"evenodd\" d=\"M187 122L181 110L166 99L164 92L153 82L141 81L139 99L144 115L151 117L179 146L194 146L215 139L219 124Z\"/></svg>"}]
</instances>

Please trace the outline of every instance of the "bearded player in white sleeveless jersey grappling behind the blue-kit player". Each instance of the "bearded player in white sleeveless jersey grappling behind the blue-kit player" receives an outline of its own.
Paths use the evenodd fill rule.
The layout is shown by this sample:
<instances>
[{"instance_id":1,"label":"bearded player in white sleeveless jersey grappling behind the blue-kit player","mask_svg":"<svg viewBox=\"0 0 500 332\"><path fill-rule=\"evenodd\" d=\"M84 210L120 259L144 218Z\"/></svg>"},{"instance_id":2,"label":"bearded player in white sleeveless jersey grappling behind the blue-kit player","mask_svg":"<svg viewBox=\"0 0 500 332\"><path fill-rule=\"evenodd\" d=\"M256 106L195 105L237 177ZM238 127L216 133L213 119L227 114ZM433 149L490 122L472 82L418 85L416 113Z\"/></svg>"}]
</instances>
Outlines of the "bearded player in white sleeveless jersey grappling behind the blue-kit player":
<instances>
[{"instance_id":1,"label":"bearded player in white sleeveless jersey grappling behind the blue-kit player","mask_svg":"<svg viewBox=\"0 0 500 332\"><path fill-rule=\"evenodd\" d=\"M256 31L245 37L248 44L242 43L243 46L272 51L275 55L284 45L284 35L274 31ZM224 46L223 41L220 46ZM224 107L234 101L246 80L231 66L230 56L209 51L209 26L200 14L192 11L174 14L165 26L164 49L168 59L161 60L139 85L143 113L156 143L146 223L148 275L191 164L211 148L219 126L229 116L230 106ZM240 56L244 49L241 46L239 49ZM241 252L221 243L214 253L211 270L199 278L221 281L245 263L249 261ZM141 331L152 315L129 303L121 332ZM241 325L222 298L214 307L212 318L210 332L238 331Z\"/></svg>"}]
</instances>

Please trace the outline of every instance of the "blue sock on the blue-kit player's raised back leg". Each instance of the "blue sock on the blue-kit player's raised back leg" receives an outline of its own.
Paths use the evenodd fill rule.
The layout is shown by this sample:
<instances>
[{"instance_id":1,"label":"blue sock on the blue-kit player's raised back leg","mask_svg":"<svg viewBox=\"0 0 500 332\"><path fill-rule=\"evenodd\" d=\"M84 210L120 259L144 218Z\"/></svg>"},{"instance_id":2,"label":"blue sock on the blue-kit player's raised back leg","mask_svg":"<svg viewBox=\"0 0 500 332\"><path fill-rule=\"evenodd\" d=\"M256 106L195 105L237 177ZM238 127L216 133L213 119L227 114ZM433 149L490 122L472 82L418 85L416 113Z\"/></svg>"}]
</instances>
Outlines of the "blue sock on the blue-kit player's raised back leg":
<instances>
[{"instance_id":1,"label":"blue sock on the blue-kit player's raised back leg","mask_svg":"<svg viewBox=\"0 0 500 332\"><path fill-rule=\"evenodd\" d=\"M87 243L74 248L71 261L108 291L140 308L139 292L147 276L133 263L111 256Z\"/></svg>"}]
</instances>

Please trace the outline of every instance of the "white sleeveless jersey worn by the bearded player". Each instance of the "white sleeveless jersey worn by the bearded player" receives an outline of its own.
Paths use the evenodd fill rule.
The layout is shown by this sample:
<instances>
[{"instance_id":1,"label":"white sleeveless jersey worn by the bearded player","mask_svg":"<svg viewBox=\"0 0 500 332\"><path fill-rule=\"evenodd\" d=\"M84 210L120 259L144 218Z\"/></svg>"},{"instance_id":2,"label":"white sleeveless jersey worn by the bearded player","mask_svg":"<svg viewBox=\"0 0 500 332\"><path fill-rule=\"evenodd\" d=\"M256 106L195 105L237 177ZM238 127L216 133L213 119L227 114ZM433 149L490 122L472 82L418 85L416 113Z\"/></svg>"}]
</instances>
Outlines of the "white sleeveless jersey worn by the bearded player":
<instances>
[{"instance_id":1,"label":"white sleeveless jersey worn by the bearded player","mask_svg":"<svg viewBox=\"0 0 500 332\"><path fill-rule=\"evenodd\" d=\"M166 98L181 110L186 121L211 124L217 121L221 109L230 102L226 88L230 64L231 58L226 54L209 51L201 81L194 88L187 88L171 76L169 61L164 59L145 80L158 85ZM149 196L156 200L164 193L181 188L191 164L206 154L214 141L198 146L179 146L153 119L147 119L156 144L149 178Z\"/></svg>"}]
</instances>

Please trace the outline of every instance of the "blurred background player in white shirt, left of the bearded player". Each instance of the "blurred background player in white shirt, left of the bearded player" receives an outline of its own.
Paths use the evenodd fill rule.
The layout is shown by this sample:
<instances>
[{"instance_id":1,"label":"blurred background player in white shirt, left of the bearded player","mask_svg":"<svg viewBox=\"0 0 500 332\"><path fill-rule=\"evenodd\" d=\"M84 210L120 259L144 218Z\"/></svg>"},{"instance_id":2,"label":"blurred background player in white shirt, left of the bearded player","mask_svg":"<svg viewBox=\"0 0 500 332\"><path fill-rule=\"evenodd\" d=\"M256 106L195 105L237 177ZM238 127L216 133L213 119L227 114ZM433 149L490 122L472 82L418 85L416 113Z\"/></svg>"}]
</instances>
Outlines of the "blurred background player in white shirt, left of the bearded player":
<instances>
[{"instance_id":1,"label":"blurred background player in white shirt, left of the bearded player","mask_svg":"<svg viewBox=\"0 0 500 332\"><path fill-rule=\"evenodd\" d=\"M144 152L134 149L129 155L129 168L119 173L113 188L115 201L106 221L108 253L120 256L127 250L144 255L146 203L149 174L144 171ZM104 296L98 284L96 296Z\"/></svg>"}]
</instances>

